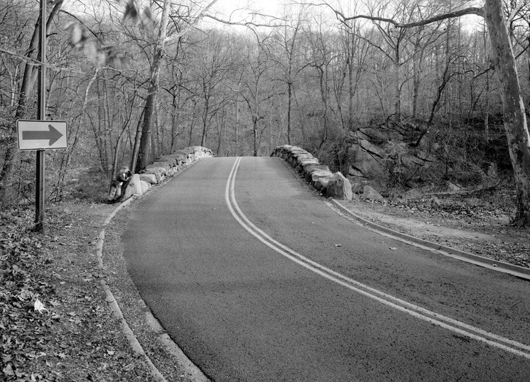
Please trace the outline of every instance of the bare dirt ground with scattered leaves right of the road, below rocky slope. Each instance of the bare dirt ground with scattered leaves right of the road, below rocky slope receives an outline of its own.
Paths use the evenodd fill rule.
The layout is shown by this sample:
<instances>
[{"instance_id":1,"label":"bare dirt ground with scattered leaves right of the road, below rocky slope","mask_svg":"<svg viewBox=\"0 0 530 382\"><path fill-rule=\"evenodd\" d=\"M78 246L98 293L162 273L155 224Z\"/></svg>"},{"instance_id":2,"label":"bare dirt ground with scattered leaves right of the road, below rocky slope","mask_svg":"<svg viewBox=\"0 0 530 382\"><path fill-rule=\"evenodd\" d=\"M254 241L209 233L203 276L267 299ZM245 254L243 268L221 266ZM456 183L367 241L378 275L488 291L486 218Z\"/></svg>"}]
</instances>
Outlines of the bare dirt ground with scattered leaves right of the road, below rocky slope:
<instances>
[{"instance_id":1,"label":"bare dirt ground with scattered leaves right of the road, below rocky slope","mask_svg":"<svg viewBox=\"0 0 530 382\"><path fill-rule=\"evenodd\" d=\"M530 267L530 229L509 225L508 215L485 210L476 202L432 207L430 200L413 203L364 201L342 204L357 215L403 232L494 260ZM465 206L463 208L455 208ZM453 211L447 211L447 210Z\"/></svg>"}]
</instances>

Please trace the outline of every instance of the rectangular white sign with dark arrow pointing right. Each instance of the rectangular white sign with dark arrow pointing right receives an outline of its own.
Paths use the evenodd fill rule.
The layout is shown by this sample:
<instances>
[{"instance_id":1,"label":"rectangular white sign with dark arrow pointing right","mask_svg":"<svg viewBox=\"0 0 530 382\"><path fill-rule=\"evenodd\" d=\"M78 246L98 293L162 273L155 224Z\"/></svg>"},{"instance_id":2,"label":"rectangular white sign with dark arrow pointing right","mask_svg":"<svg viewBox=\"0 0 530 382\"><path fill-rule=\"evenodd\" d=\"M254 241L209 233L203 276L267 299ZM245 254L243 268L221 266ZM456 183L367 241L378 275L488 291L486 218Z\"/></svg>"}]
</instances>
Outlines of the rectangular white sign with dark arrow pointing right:
<instances>
[{"instance_id":1,"label":"rectangular white sign with dark arrow pointing right","mask_svg":"<svg viewBox=\"0 0 530 382\"><path fill-rule=\"evenodd\" d=\"M68 129L64 121L16 121L19 150L68 148Z\"/></svg>"}]
</instances>

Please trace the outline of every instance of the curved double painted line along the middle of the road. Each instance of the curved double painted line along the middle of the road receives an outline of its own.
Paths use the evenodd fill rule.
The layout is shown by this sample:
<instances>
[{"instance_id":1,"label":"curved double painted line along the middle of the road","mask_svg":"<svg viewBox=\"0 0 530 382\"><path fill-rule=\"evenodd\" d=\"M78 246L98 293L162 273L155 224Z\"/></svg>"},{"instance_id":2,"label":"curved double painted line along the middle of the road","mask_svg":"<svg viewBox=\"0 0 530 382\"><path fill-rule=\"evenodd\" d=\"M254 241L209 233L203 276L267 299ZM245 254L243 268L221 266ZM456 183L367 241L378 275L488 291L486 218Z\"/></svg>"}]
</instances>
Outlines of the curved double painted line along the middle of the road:
<instances>
[{"instance_id":1,"label":"curved double painted line along the middle of the road","mask_svg":"<svg viewBox=\"0 0 530 382\"><path fill-rule=\"evenodd\" d=\"M333 283L342 285L352 290L353 292L364 295L400 312L407 313L422 321L429 322L454 333L466 336L476 341L487 343L488 345L491 345L493 347L502 349L509 353L516 354L517 356L524 357L530 360L529 345L525 345L523 343L510 340L500 335L493 334L479 328L475 328L475 326L451 319L451 317L447 317L439 313L429 311L418 305L414 305L412 303L404 301L398 297L394 297L387 293L381 292L381 290L369 287L368 285L360 283L359 281L341 275L340 273L335 272L332 269L326 268L320 265L319 263L304 257L302 254L288 248L286 245L271 238L267 233L263 232L257 226L255 226L248 219L248 217L245 216L245 214L237 205L235 199L234 184L240 163L241 157L237 157L234 162L234 165L232 166L232 170L228 175L228 180L226 182L225 187L225 202L228 206L228 210L230 211L232 216L234 216L234 219L253 237L261 241L263 244L267 245L267 247L278 252L282 256L285 256L289 260L294 261L298 265L301 265L302 267L311 270L315 274L320 275L332 281Z\"/></svg>"}]
</instances>

